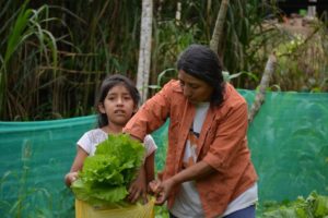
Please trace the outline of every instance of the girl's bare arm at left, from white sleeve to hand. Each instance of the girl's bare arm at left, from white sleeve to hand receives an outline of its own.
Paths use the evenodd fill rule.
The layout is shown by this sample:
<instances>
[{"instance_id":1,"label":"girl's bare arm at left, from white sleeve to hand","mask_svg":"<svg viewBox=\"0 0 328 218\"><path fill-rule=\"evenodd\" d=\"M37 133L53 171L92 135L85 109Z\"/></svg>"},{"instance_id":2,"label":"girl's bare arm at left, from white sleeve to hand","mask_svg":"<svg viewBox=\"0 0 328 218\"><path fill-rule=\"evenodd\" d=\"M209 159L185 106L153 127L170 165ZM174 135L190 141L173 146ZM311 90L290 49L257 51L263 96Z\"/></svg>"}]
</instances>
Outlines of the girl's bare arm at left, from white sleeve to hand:
<instances>
[{"instance_id":1,"label":"girl's bare arm at left, from white sleeve to hand","mask_svg":"<svg viewBox=\"0 0 328 218\"><path fill-rule=\"evenodd\" d=\"M72 164L71 170L65 175L65 183L67 186L71 186L72 182L78 179L78 171L82 169L83 162L87 156L89 154L83 148L78 146L78 153Z\"/></svg>"}]
</instances>

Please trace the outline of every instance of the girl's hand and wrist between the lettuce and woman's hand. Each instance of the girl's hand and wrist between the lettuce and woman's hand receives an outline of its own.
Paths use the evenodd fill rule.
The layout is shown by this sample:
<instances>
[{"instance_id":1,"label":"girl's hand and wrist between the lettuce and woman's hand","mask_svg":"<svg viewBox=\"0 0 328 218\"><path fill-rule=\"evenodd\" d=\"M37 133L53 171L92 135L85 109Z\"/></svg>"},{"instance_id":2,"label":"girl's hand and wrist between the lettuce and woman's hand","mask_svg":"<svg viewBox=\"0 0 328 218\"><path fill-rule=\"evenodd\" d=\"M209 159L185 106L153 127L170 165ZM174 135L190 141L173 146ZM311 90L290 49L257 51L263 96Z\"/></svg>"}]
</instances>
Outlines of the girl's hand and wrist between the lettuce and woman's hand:
<instances>
[{"instance_id":1,"label":"girl's hand and wrist between the lettuce and woman's hand","mask_svg":"<svg viewBox=\"0 0 328 218\"><path fill-rule=\"evenodd\" d=\"M129 187L129 196L128 199L131 203L137 202L139 197L142 197L143 203L145 204L148 202L147 198L147 179L145 179L145 171L144 167L142 166L137 179L130 184Z\"/></svg>"}]
</instances>

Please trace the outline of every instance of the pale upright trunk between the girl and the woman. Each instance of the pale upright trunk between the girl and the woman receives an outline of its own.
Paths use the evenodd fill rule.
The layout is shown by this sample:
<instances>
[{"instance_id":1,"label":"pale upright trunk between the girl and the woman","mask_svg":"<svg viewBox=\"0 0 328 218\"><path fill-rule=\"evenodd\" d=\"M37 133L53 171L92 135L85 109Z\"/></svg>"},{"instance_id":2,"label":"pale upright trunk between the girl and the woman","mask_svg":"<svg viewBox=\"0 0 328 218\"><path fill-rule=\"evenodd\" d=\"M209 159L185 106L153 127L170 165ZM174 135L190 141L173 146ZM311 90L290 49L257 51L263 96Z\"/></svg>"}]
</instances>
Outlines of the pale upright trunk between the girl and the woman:
<instances>
[{"instance_id":1,"label":"pale upright trunk between the girl and the woman","mask_svg":"<svg viewBox=\"0 0 328 218\"><path fill-rule=\"evenodd\" d=\"M143 104L148 97L148 83L150 77L151 62L152 19L153 1L142 0L140 50L137 74L137 88L140 90L141 96L140 104Z\"/></svg>"}]
</instances>

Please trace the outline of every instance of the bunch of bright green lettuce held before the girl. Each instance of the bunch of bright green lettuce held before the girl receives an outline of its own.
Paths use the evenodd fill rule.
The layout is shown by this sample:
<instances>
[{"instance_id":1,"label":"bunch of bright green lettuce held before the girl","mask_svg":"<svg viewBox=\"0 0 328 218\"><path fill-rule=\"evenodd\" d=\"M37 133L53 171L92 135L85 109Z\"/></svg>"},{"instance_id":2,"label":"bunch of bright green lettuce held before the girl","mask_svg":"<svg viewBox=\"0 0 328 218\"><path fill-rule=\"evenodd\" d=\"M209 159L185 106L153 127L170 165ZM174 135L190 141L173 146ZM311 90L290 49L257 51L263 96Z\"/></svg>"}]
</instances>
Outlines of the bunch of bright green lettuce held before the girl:
<instances>
[{"instance_id":1,"label":"bunch of bright green lettuce held before the girl","mask_svg":"<svg viewBox=\"0 0 328 218\"><path fill-rule=\"evenodd\" d=\"M144 147L128 135L109 135L83 164L71 185L75 197L94 206L122 203L142 165Z\"/></svg>"}]
</instances>

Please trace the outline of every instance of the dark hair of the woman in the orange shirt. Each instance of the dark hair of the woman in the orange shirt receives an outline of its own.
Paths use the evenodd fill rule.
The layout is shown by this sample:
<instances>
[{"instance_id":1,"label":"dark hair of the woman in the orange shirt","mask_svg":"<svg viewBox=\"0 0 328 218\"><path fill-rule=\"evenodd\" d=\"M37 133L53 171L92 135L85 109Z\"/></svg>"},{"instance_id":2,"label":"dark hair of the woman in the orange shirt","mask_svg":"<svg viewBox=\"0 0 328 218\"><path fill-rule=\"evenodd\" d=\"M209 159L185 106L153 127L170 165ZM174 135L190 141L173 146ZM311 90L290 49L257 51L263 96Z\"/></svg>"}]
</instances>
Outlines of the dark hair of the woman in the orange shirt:
<instances>
[{"instance_id":1,"label":"dark hair of the woman in the orange shirt","mask_svg":"<svg viewBox=\"0 0 328 218\"><path fill-rule=\"evenodd\" d=\"M220 106L223 102L224 80L222 68L218 55L202 45L189 46L181 52L177 61L178 71L183 70L214 88L211 98L214 106Z\"/></svg>"}]
</instances>

